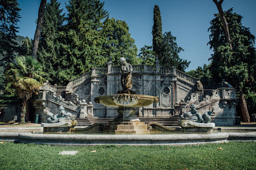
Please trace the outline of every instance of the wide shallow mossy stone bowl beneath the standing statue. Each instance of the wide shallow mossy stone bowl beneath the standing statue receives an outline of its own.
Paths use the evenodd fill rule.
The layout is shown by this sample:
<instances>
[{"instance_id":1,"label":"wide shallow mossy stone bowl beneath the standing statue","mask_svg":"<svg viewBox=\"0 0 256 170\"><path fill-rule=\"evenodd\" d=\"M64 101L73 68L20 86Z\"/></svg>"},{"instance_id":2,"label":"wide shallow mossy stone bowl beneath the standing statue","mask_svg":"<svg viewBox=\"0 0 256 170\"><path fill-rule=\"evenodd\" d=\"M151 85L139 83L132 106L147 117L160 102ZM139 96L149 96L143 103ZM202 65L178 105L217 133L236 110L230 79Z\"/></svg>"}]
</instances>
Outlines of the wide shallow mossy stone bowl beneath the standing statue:
<instances>
[{"instance_id":1,"label":"wide shallow mossy stone bowl beneath the standing statue","mask_svg":"<svg viewBox=\"0 0 256 170\"><path fill-rule=\"evenodd\" d=\"M156 96L148 96L142 94L114 94L108 96L100 96L94 98L94 101L104 106L110 106L114 108L120 107L143 107L158 102L159 98Z\"/></svg>"}]
</instances>

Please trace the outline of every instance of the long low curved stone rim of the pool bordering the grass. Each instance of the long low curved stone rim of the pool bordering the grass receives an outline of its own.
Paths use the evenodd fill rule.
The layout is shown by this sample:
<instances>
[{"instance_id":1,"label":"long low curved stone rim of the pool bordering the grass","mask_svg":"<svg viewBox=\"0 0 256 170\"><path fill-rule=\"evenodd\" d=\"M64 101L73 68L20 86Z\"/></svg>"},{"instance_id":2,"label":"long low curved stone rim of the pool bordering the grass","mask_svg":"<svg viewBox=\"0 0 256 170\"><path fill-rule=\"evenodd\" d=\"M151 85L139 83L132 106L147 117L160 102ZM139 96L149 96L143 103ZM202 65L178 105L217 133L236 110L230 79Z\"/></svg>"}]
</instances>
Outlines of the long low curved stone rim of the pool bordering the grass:
<instances>
[{"instance_id":1,"label":"long low curved stone rim of the pool bordering the grass","mask_svg":"<svg viewBox=\"0 0 256 170\"><path fill-rule=\"evenodd\" d=\"M169 133L163 135L88 135L0 132L0 140L49 145L193 145L256 141L256 132Z\"/></svg>"}]
</instances>

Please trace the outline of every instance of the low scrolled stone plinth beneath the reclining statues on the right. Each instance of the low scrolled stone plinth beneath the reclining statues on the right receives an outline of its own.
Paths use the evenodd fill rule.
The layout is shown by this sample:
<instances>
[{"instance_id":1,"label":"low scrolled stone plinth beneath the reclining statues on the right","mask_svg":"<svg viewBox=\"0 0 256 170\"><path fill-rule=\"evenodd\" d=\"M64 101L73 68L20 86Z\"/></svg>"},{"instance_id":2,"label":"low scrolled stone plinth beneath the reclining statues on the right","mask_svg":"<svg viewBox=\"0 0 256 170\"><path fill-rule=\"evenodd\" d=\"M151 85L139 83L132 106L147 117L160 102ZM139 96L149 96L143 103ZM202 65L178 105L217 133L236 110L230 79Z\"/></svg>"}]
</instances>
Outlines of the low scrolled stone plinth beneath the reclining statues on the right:
<instances>
[{"instance_id":1,"label":"low scrolled stone plinth beneath the reclining statues on the right","mask_svg":"<svg viewBox=\"0 0 256 170\"><path fill-rule=\"evenodd\" d=\"M179 125L183 129L184 132L210 132L213 127L215 127L215 123L198 123L193 122L191 120L180 120Z\"/></svg>"}]
</instances>

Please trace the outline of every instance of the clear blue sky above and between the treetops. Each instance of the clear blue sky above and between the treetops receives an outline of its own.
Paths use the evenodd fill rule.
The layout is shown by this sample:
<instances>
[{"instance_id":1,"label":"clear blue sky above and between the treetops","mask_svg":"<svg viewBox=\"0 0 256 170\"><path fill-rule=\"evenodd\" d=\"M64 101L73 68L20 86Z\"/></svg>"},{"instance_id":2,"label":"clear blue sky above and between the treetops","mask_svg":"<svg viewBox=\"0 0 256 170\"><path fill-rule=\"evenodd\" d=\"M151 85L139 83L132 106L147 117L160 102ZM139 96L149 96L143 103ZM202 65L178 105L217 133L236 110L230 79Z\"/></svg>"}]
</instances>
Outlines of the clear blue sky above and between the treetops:
<instances>
[{"instance_id":1,"label":"clear blue sky above and between the treetops","mask_svg":"<svg viewBox=\"0 0 256 170\"><path fill-rule=\"evenodd\" d=\"M18 0L21 12L18 22L19 33L24 37L34 37L36 19L41 0ZM68 0L59 0L65 10ZM104 9L110 18L126 21L131 37L135 39L138 50L144 45L152 45L152 26L154 5L158 5L162 17L162 33L171 31L178 45L184 49L180 57L191 61L186 71L209 64L212 51L207 46L210 21L218 13L212 0L105 0ZM242 23L256 36L256 1L224 0L223 10L231 7L243 16ZM66 12L67 13L67 12ZM255 45L254 45L255 46Z\"/></svg>"}]
</instances>

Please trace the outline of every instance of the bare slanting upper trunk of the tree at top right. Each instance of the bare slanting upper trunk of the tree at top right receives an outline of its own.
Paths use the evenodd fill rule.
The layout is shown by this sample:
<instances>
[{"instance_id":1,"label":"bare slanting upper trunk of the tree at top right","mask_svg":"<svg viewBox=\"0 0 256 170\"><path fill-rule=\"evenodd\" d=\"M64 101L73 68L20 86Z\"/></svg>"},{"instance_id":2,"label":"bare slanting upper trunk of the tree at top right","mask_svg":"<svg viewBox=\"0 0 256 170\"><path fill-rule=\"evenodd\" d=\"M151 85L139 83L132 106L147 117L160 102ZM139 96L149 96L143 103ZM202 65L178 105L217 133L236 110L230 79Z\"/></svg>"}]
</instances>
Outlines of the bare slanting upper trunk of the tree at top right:
<instances>
[{"instance_id":1,"label":"bare slanting upper trunk of the tree at top right","mask_svg":"<svg viewBox=\"0 0 256 170\"><path fill-rule=\"evenodd\" d=\"M216 4L216 6L218 8L218 11L219 11L219 14L220 14L220 20L222 21L223 28L224 28L224 31L225 31L226 42L228 43L228 45L230 46L230 49L232 50L233 48L232 48L232 43L231 43L231 38L230 38L230 31L228 29L227 20L226 20L226 17L224 16L224 12L223 12L223 9L222 9L222 2L224 0L220 0L220 1L212 0L212 1L214 1L214 3Z\"/></svg>"}]
</instances>

